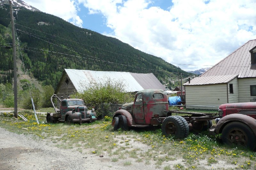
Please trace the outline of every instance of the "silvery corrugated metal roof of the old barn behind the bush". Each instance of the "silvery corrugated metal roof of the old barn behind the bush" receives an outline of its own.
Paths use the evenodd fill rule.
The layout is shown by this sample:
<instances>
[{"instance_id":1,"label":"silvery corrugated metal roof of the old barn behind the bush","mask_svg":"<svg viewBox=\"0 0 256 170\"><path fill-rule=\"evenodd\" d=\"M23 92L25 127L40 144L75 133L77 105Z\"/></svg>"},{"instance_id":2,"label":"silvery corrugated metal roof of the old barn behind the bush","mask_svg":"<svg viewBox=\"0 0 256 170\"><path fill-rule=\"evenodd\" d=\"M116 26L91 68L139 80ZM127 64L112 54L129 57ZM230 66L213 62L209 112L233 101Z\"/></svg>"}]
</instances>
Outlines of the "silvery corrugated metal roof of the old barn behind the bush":
<instances>
[{"instance_id":1,"label":"silvery corrugated metal roof of the old barn behind the bush","mask_svg":"<svg viewBox=\"0 0 256 170\"><path fill-rule=\"evenodd\" d=\"M104 83L108 79L112 81L121 81L125 85L126 92L136 92L144 89L162 89L159 80L152 74L139 74L130 72L116 72L116 71L91 71L91 70L75 70L65 69L68 77L72 81L78 92L83 92L90 83L101 82Z\"/></svg>"}]
</instances>

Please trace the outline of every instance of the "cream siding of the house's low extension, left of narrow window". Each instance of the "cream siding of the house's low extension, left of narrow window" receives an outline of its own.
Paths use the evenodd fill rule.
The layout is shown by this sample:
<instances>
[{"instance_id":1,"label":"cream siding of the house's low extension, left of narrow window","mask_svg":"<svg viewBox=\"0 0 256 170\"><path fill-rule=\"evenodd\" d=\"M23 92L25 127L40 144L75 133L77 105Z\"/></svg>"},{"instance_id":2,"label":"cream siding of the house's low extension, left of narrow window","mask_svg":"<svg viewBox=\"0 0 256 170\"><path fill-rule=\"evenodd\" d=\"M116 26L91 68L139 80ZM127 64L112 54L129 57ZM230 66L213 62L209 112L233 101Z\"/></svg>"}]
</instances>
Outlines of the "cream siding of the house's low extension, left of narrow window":
<instances>
[{"instance_id":1,"label":"cream siding of the house's low extension, left of narrow window","mask_svg":"<svg viewBox=\"0 0 256 170\"><path fill-rule=\"evenodd\" d=\"M227 103L227 84L186 86L186 105L219 106Z\"/></svg>"}]
</instances>

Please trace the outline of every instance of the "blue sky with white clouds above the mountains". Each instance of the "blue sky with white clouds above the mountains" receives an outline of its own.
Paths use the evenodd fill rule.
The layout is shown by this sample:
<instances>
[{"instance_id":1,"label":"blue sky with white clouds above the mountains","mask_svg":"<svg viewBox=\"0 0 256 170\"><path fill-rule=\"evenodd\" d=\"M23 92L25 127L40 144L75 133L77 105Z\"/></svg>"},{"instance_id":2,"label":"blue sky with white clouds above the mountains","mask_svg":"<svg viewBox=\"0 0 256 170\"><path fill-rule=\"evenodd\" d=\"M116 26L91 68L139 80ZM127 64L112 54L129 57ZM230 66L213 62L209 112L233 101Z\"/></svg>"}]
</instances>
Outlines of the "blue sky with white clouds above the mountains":
<instances>
[{"instance_id":1,"label":"blue sky with white clouds above the mountains","mask_svg":"<svg viewBox=\"0 0 256 170\"><path fill-rule=\"evenodd\" d=\"M256 39L256 0L23 0L185 71L211 67Z\"/></svg>"}]
</instances>

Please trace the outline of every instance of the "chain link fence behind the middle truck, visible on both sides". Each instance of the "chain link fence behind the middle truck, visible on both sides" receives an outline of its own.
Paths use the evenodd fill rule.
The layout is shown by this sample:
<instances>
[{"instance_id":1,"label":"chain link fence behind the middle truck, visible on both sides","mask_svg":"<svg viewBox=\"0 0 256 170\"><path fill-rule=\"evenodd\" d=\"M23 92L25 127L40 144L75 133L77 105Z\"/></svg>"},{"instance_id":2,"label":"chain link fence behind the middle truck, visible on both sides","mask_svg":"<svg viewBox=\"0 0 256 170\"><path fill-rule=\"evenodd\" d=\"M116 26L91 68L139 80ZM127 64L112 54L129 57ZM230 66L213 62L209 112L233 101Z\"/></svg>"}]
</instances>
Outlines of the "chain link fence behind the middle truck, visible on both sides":
<instances>
[{"instance_id":1,"label":"chain link fence behind the middle truck, visible on both sides","mask_svg":"<svg viewBox=\"0 0 256 170\"><path fill-rule=\"evenodd\" d=\"M112 117L114 113L121 107L122 104L101 104L101 116L100 119L103 119L105 116ZM219 106L199 106L199 105L174 105L169 106L169 110L186 112L184 115L188 115L187 112L194 113L206 113L206 114L218 114ZM173 115L182 115L182 113L173 113Z\"/></svg>"}]
</instances>

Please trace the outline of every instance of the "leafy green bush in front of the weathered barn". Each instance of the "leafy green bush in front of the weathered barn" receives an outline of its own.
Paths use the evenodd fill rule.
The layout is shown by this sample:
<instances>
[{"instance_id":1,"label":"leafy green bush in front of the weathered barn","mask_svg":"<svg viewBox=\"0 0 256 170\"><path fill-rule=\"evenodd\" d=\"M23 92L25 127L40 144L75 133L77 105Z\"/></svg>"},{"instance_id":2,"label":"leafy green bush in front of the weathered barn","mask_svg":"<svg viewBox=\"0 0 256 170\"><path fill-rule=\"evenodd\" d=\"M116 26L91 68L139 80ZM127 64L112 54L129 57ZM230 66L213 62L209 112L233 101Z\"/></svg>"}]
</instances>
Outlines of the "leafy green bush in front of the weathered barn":
<instances>
[{"instance_id":1,"label":"leafy green bush in front of the weathered barn","mask_svg":"<svg viewBox=\"0 0 256 170\"><path fill-rule=\"evenodd\" d=\"M89 86L90 85L90 86ZM134 95L124 91L124 84L122 81L113 81L110 78L105 83L89 83L83 93L76 93L71 95L71 98L83 99L85 105L89 109L95 107L97 116L101 114L101 104L123 104L134 100Z\"/></svg>"}]
</instances>

